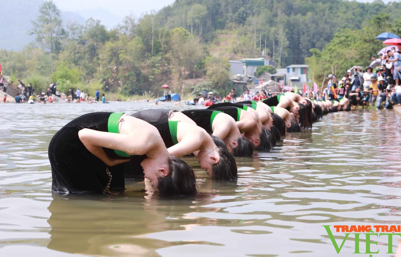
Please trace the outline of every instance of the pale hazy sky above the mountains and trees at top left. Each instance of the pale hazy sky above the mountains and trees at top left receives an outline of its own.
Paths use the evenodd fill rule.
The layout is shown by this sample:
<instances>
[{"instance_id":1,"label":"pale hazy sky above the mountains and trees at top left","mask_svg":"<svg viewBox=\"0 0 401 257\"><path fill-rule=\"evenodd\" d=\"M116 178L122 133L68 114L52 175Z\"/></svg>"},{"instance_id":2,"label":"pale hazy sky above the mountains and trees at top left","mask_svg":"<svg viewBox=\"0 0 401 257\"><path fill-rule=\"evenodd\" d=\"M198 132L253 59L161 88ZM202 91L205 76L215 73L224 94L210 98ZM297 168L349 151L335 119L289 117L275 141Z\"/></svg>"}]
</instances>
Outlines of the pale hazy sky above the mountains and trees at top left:
<instances>
[{"instance_id":1,"label":"pale hazy sky above the mountains and trees at top left","mask_svg":"<svg viewBox=\"0 0 401 257\"><path fill-rule=\"evenodd\" d=\"M53 0L53 2L63 11L80 12L102 8L123 18L130 14L140 17L145 12L158 11L174 3L174 0Z\"/></svg>"}]
</instances>

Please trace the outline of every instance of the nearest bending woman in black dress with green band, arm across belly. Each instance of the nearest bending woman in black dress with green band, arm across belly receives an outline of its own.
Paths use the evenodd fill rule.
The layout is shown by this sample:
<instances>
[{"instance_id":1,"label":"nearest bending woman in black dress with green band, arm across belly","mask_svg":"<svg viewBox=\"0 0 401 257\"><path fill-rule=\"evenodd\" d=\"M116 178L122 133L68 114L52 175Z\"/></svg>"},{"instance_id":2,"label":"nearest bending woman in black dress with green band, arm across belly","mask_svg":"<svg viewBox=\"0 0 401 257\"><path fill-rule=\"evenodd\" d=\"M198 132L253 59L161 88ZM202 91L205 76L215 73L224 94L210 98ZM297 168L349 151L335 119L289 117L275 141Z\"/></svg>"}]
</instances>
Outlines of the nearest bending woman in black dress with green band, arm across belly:
<instances>
[{"instance_id":1,"label":"nearest bending woman in black dress with green band, arm across belly","mask_svg":"<svg viewBox=\"0 0 401 257\"><path fill-rule=\"evenodd\" d=\"M124 113L107 112L82 115L53 136L52 190L103 194L124 190L122 164L143 154L147 158L140 165L154 190L169 195L197 193L194 171L168 152L156 127Z\"/></svg>"}]
</instances>

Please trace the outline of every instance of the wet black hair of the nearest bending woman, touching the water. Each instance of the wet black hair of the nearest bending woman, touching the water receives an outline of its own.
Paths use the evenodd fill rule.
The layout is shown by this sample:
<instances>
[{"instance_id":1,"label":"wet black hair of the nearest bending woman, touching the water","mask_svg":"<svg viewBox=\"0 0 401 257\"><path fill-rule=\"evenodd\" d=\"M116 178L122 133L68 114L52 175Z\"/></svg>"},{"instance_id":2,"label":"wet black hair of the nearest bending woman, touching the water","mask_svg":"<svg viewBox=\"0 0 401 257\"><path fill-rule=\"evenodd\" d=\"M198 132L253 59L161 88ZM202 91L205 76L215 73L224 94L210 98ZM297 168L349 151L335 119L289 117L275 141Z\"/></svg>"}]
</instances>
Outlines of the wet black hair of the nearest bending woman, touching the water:
<instances>
[{"instance_id":1,"label":"wet black hair of the nearest bending woman, touching the water","mask_svg":"<svg viewBox=\"0 0 401 257\"><path fill-rule=\"evenodd\" d=\"M196 176L194 170L183 160L171 156L167 160L169 172L167 176L159 177L157 187L165 195L196 195Z\"/></svg>"}]
</instances>

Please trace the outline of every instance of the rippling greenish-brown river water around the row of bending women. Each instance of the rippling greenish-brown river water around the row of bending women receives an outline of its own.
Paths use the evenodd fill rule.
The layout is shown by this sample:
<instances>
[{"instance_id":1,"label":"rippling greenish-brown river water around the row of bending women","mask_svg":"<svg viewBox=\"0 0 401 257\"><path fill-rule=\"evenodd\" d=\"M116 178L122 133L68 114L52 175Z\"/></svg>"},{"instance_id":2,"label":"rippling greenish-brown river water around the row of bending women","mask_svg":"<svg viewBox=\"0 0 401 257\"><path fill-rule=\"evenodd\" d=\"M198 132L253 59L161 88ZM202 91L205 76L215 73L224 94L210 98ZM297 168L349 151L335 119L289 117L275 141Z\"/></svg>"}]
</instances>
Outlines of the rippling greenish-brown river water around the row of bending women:
<instances>
[{"instance_id":1,"label":"rippling greenish-brown river water around the row of bending women","mask_svg":"<svg viewBox=\"0 0 401 257\"><path fill-rule=\"evenodd\" d=\"M163 198L134 181L116 196L52 194L47 147L57 130L85 113L188 107L1 108L0 256L350 256L354 236L338 255L322 225L401 223L401 117L391 110L330 113L269 153L237 158L237 182L212 181L186 158L201 196ZM332 231L340 246L344 234ZM391 256L387 237L378 241L373 256Z\"/></svg>"}]
</instances>

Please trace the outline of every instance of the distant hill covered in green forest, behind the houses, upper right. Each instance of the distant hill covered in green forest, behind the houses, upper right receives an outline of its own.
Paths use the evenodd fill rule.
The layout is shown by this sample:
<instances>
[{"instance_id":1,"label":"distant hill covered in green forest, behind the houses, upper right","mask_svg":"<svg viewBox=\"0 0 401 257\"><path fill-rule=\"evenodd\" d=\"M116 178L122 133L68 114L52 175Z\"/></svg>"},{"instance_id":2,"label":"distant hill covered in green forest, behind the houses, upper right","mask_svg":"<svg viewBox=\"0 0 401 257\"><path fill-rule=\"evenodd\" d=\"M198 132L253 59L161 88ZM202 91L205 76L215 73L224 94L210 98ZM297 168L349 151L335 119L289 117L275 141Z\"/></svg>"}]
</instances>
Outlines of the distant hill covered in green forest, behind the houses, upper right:
<instances>
[{"instance_id":1,"label":"distant hill covered in green forest, behind the houses, upper right","mask_svg":"<svg viewBox=\"0 0 401 257\"><path fill-rule=\"evenodd\" d=\"M238 33L253 57L266 53L282 66L304 63L342 28L361 29L381 12L400 16L401 3L343 0L176 0L159 13L168 26L183 27L205 42L219 30ZM281 57L281 58L280 58Z\"/></svg>"}]
</instances>

